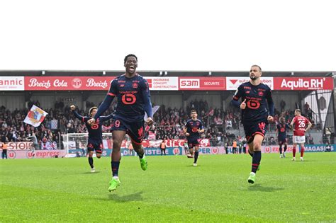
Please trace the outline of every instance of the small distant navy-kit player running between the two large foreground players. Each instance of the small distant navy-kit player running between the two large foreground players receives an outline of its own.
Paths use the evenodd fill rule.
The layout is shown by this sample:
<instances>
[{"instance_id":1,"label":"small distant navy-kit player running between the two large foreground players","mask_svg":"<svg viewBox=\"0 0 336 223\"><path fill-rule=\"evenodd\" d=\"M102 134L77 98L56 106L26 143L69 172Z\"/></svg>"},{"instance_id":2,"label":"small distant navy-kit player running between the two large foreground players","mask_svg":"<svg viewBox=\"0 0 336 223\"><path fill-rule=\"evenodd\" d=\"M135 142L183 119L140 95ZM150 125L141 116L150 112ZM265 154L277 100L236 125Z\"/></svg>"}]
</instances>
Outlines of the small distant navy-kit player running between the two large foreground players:
<instances>
[{"instance_id":1,"label":"small distant navy-kit player running between the two large foreground players","mask_svg":"<svg viewBox=\"0 0 336 223\"><path fill-rule=\"evenodd\" d=\"M201 120L197 119L196 110L191 110L191 119L186 121L186 125L183 127L184 134L186 135L186 140L188 141L188 147L190 154L194 153L194 166L197 166L198 159L198 149L199 142L201 138L200 133L204 132L203 123Z\"/></svg>"}]
</instances>

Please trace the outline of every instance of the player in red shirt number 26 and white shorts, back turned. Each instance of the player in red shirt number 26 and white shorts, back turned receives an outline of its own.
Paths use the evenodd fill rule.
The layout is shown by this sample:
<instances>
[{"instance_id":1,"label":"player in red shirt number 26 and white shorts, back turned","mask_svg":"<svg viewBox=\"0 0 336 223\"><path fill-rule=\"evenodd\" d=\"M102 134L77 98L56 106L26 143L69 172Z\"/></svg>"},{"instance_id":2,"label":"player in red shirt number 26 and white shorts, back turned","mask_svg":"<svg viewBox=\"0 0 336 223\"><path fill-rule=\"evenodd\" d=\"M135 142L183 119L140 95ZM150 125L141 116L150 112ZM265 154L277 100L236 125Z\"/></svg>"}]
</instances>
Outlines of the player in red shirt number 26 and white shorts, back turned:
<instances>
[{"instance_id":1,"label":"player in red shirt number 26 and white shorts, back turned","mask_svg":"<svg viewBox=\"0 0 336 223\"><path fill-rule=\"evenodd\" d=\"M294 125L294 129L293 129ZM295 110L295 117L291 121L290 124L291 128L293 129L293 159L295 161L295 154L296 154L296 145L300 144L301 146L301 156L300 160L303 161L303 153L305 151L305 132L307 132L311 127L311 122L308 118L301 115L301 110Z\"/></svg>"}]
</instances>

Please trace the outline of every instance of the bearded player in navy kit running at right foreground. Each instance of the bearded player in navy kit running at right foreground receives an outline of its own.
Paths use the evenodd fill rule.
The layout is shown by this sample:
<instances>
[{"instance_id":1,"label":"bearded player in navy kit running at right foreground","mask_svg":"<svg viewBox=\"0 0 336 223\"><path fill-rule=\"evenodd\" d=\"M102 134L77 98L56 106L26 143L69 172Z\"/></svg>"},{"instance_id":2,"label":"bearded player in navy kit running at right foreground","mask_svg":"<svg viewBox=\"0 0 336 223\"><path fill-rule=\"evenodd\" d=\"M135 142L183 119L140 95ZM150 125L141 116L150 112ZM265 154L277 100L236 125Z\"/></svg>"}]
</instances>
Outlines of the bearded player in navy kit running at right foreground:
<instances>
[{"instance_id":1,"label":"bearded player in navy kit running at right foreground","mask_svg":"<svg viewBox=\"0 0 336 223\"><path fill-rule=\"evenodd\" d=\"M241 84L231 103L242 110L242 125L252 156L252 171L247 181L254 183L255 173L262 159L262 141L268 122L273 121L274 103L271 88L260 80L262 69L253 65L250 69L250 81ZM242 103L238 100L242 98Z\"/></svg>"}]
</instances>

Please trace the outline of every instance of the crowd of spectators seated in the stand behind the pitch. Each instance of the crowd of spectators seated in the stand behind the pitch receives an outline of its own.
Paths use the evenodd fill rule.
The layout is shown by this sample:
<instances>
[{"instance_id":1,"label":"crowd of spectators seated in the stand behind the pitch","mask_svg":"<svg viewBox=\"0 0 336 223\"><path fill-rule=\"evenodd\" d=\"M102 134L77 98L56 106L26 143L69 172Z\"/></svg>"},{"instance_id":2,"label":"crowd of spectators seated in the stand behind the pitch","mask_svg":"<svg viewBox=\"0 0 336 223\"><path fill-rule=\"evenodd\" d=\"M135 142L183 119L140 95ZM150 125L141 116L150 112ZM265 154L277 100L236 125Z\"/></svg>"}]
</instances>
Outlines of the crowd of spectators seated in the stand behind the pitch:
<instances>
[{"instance_id":1,"label":"crowd of spectators seated in the stand behind the pitch","mask_svg":"<svg viewBox=\"0 0 336 223\"><path fill-rule=\"evenodd\" d=\"M28 102L29 108L33 105L40 105L38 101ZM113 113L116 103L103 115ZM94 103L86 102L86 108L93 107ZM284 107L284 106L283 106ZM42 108L42 107L40 107ZM154 115L155 125L147 127L146 136L150 139L184 139L183 126L186 120L190 118L190 111L196 110L198 118L203 121L206 131L201 135L203 138L211 139L212 144L222 145L224 142L232 143L233 140L242 142L242 137L237 134L237 130L243 134L241 125L240 110L229 106L227 110L220 108L212 108L208 106L207 101L194 100L183 108L166 108L160 105L159 110ZM65 133L86 133L86 125L82 120L74 117L69 109L69 105L65 105L62 101L57 101L54 108L43 108L48 115L43 124L39 127L32 127L23 122L28 113L28 108L21 110L7 110L4 106L0 107L0 135L1 142L21 142L35 133L39 144L43 142L60 142L62 134ZM304 110L308 113L310 108L305 105ZM86 116L89 115L84 110L77 112ZM274 124L270 125L271 131L275 131L275 127L279 122L279 117L284 116L286 122L291 122L293 118L293 110L275 110ZM313 120L312 120L313 122ZM111 129L111 120L103 123L103 132L109 132ZM149 133L148 133L149 132ZM236 135L235 135L235 134ZM327 137L327 134L325 134ZM313 137L307 136L307 142L313 142ZM330 134L329 134L330 137ZM267 137L267 144L276 144L273 136Z\"/></svg>"}]
</instances>

